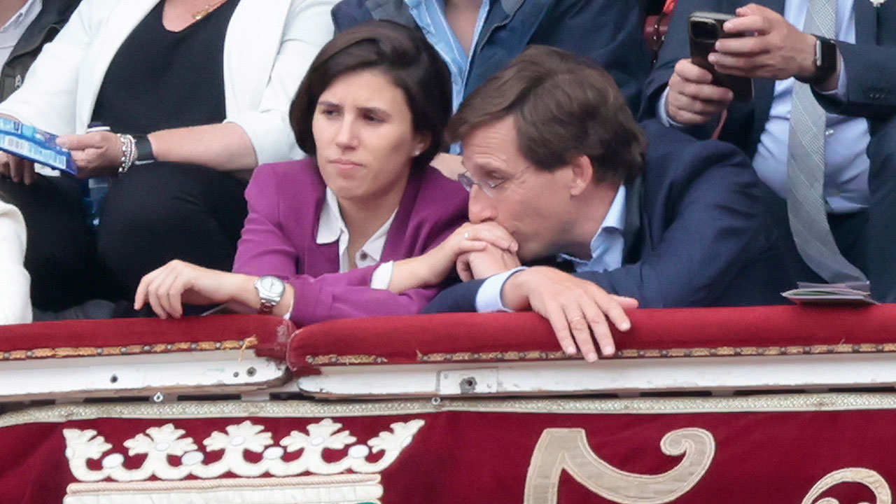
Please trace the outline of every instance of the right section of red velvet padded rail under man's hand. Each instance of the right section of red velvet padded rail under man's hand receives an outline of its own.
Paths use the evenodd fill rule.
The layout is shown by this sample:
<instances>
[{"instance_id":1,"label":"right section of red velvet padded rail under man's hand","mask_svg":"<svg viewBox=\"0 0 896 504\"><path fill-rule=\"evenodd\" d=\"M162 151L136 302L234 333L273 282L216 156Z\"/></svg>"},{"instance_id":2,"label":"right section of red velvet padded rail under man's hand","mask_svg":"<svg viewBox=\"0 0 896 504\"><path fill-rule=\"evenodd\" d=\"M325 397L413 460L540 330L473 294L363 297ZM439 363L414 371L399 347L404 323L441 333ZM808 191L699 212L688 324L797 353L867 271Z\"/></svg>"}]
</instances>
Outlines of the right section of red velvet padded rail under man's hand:
<instances>
[{"instance_id":1,"label":"right section of red velvet padded rail under man's hand","mask_svg":"<svg viewBox=\"0 0 896 504\"><path fill-rule=\"evenodd\" d=\"M896 304L635 309L628 315L632 329L614 330L617 358L896 351ZM531 312L334 320L300 329L287 353L290 368L300 372L526 358L565 358L547 320Z\"/></svg>"}]
</instances>

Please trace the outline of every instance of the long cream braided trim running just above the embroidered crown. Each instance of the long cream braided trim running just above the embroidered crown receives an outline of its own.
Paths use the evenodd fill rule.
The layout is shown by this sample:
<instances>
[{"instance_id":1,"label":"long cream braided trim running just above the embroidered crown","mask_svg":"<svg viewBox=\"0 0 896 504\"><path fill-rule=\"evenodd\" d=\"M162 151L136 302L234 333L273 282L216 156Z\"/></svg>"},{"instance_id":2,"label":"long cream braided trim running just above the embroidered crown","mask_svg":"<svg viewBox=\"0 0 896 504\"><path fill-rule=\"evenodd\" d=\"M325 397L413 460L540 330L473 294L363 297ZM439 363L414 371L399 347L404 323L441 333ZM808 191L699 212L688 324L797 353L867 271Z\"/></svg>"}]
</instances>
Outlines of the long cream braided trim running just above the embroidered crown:
<instances>
[{"instance_id":1,"label":"long cream braided trim running just above the embroidered crown","mask_svg":"<svg viewBox=\"0 0 896 504\"><path fill-rule=\"evenodd\" d=\"M54 404L0 414L0 428L98 418L325 418L439 412L544 414L670 414L896 410L892 393L773 394L718 397L443 398L387 401L179 401L175 403Z\"/></svg>"}]
</instances>

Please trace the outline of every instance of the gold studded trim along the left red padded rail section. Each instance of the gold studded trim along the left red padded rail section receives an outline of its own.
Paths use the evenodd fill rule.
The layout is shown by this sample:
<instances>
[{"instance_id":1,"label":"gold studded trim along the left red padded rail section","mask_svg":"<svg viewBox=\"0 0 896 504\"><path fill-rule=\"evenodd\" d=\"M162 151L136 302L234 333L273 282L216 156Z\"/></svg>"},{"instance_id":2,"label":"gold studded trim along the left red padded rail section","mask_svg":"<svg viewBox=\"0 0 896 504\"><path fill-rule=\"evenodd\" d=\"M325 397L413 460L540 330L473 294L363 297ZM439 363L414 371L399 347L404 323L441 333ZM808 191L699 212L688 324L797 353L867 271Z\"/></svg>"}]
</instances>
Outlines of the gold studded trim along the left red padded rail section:
<instances>
[{"instance_id":1,"label":"gold studded trim along the left red padded rail section","mask_svg":"<svg viewBox=\"0 0 896 504\"><path fill-rule=\"evenodd\" d=\"M100 357L103 355L139 355L142 353L210 352L214 350L243 350L254 348L258 338L220 342L181 342L155 344L128 344L119 346L78 346L59 348L34 348L0 353L0 361L27 361L30 359L64 359L66 357Z\"/></svg>"}]
</instances>

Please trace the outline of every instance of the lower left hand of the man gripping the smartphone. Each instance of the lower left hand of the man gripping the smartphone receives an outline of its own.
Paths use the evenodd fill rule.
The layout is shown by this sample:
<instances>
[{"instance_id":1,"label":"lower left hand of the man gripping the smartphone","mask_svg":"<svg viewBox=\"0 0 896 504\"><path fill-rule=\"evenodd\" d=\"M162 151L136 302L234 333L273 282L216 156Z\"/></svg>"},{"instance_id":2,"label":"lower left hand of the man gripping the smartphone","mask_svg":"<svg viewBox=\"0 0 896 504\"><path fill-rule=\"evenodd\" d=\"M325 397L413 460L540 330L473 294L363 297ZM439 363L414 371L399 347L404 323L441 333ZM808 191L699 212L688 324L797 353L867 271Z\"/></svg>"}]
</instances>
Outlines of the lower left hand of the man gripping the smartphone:
<instances>
[{"instance_id":1,"label":"lower left hand of the man gripping the smartphone","mask_svg":"<svg viewBox=\"0 0 896 504\"><path fill-rule=\"evenodd\" d=\"M717 117L734 100L734 92L712 84L712 74L694 65L690 59L679 60L669 77L666 113L684 125L702 125Z\"/></svg>"}]
</instances>

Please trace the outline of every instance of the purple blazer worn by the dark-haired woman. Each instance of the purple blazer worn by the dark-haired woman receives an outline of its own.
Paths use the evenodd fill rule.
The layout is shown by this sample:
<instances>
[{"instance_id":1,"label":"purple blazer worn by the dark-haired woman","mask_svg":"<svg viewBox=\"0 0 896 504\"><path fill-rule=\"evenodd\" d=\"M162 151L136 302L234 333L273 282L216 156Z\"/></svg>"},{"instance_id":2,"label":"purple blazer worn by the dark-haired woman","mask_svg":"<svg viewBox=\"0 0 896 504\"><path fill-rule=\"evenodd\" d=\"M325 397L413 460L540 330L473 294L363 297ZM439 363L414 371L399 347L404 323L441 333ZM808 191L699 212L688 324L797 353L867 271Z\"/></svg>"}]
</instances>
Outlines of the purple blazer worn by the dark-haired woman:
<instances>
[{"instance_id":1,"label":"purple blazer worn by the dark-haired woman","mask_svg":"<svg viewBox=\"0 0 896 504\"><path fill-rule=\"evenodd\" d=\"M237 245L233 271L272 274L296 290L292 320L306 326L346 317L410 315L435 297L438 287L401 294L371 289L376 265L339 272L339 243L318 245L324 191L313 159L271 163L255 169L246 187L249 214ZM383 262L419 256L467 221L467 191L439 170L411 170Z\"/></svg>"}]
</instances>

